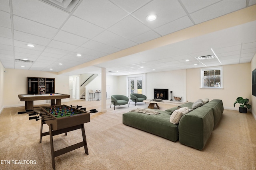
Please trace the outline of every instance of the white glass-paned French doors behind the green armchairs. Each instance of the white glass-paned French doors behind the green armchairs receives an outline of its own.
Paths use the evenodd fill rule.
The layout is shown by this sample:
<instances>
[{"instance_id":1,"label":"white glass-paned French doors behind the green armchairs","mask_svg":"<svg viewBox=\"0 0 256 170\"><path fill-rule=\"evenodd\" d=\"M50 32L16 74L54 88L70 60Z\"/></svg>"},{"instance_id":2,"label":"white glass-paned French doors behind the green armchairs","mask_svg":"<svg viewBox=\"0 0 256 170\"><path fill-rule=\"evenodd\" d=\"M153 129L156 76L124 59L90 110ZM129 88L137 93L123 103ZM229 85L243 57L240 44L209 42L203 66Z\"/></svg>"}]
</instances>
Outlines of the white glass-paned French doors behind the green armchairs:
<instances>
[{"instance_id":1,"label":"white glass-paned French doors behind the green armchairs","mask_svg":"<svg viewBox=\"0 0 256 170\"><path fill-rule=\"evenodd\" d=\"M133 77L128 80L129 96L131 93L142 94L142 77Z\"/></svg>"}]
</instances>

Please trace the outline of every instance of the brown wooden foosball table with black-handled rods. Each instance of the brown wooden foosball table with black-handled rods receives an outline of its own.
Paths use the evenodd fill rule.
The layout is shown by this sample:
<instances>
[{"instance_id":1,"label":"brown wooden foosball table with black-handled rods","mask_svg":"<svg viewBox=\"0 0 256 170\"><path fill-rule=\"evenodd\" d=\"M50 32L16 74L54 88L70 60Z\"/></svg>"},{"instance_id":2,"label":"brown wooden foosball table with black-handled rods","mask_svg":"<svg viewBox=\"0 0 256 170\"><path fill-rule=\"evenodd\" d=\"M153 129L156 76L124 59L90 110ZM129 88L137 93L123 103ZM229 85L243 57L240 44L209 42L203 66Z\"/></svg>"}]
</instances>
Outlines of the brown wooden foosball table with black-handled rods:
<instances>
[{"instance_id":1,"label":"brown wooden foosball table with black-handled rods","mask_svg":"<svg viewBox=\"0 0 256 170\"><path fill-rule=\"evenodd\" d=\"M90 113L96 113L96 109L86 111L86 108L80 108L82 106L46 106L37 107L33 111L28 112L29 119L36 119L36 121L41 120L40 129L40 143L42 142L42 137L50 135L50 145L52 153L52 168L55 170L55 157L60 156L64 153L70 152L72 150L84 147L85 153L88 155L88 148L86 143L86 135L84 131L84 123L90 122ZM80 109L78 109L80 108ZM47 124L49 126L48 132L43 131L43 125ZM76 129L82 130L83 141L76 143L69 147L54 151L53 136L59 135L61 133L67 133L69 131L74 131Z\"/></svg>"}]
</instances>

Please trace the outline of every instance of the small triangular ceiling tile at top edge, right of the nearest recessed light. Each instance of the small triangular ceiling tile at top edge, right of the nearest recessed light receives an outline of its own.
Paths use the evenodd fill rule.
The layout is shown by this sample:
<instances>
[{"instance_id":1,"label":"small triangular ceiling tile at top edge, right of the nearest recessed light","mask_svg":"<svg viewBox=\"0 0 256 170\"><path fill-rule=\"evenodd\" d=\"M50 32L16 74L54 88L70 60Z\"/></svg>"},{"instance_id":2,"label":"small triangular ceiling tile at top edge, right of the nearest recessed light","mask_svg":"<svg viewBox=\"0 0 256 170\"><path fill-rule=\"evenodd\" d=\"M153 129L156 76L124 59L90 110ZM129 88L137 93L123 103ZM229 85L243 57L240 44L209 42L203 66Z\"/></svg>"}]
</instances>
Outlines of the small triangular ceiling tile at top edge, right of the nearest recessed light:
<instances>
[{"instance_id":1,"label":"small triangular ceiling tile at top edge, right of the nearest recessed light","mask_svg":"<svg viewBox=\"0 0 256 170\"><path fill-rule=\"evenodd\" d=\"M188 13L198 11L218 1L220 0L196 0L196 3L195 3L195 1L192 1L192 0L181 0L182 4L184 5Z\"/></svg>"}]
</instances>

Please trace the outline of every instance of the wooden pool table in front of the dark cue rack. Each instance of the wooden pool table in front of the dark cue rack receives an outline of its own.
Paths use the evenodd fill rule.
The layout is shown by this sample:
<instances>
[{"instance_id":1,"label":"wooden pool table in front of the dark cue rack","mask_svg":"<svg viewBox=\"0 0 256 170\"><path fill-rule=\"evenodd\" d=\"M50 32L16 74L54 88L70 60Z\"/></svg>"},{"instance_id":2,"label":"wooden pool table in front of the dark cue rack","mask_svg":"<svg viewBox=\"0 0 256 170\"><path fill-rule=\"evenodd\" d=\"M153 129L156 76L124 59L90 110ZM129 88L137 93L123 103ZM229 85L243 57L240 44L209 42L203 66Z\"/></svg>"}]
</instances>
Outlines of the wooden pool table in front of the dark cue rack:
<instances>
[{"instance_id":1,"label":"wooden pool table in front of the dark cue rack","mask_svg":"<svg viewBox=\"0 0 256 170\"><path fill-rule=\"evenodd\" d=\"M51 100L52 105L61 105L61 99L70 98L69 94L19 94L20 101L25 101L25 109L34 109L34 100ZM56 102L55 102L56 100Z\"/></svg>"}]
</instances>

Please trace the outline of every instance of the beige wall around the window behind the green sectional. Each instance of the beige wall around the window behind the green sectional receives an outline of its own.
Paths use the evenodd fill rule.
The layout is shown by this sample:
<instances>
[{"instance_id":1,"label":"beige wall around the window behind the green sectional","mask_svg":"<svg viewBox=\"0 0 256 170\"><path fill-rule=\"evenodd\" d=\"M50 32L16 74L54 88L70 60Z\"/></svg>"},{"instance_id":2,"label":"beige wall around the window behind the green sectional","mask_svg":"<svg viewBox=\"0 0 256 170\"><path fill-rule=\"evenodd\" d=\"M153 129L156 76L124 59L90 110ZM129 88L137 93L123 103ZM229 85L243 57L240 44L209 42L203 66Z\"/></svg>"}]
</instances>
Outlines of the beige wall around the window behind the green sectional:
<instances>
[{"instance_id":1,"label":"beige wall around the window behind the green sectional","mask_svg":"<svg viewBox=\"0 0 256 170\"><path fill-rule=\"evenodd\" d=\"M250 63L231 64L223 66L223 89L202 89L201 68L187 69L186 87L188 102L195 102L199 98L221 99L225 109L234 107L236 98L248 98L251 104L251 69Z\"/></svg>"}]
</instances>

